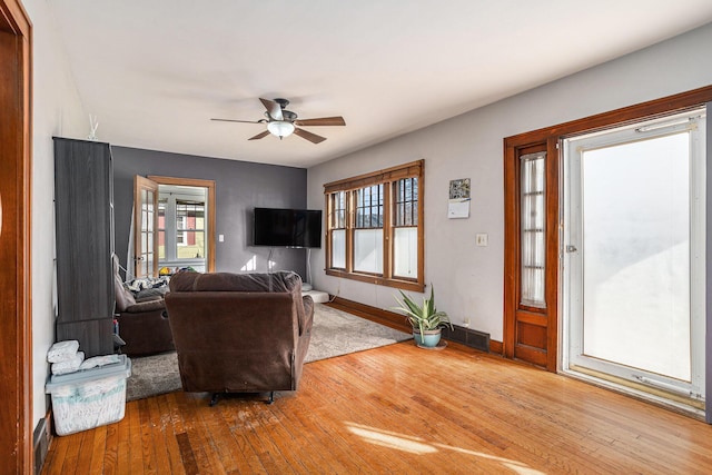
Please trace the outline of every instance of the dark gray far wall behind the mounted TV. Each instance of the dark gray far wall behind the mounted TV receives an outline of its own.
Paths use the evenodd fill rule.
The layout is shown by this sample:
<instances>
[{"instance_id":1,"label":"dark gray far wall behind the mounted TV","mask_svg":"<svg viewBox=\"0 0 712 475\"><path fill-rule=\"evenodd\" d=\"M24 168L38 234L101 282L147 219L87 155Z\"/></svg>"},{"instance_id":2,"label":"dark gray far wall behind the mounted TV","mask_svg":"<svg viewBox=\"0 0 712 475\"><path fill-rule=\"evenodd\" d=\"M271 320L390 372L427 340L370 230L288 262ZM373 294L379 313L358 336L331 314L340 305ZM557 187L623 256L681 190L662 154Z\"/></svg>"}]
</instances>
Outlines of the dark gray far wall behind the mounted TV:
<instances>
[{"instance_id":1,"label":"dark gray far wall behind the mounted TV","mask_svg":"<svg viewBox=\"0 0 712 475\"><path fill-rule=\"evenodd\" d=\"M148 175L215 180L216 270L267 271L270 249L254 247L253 208L306 208L307 172L301 168L224 160L190 155L111 146L113 155L113 202L116 253L126 266L134 176ZM306 250L275 248L273 270L294 270L303 278Z\"/></svg>"}]
</instances>

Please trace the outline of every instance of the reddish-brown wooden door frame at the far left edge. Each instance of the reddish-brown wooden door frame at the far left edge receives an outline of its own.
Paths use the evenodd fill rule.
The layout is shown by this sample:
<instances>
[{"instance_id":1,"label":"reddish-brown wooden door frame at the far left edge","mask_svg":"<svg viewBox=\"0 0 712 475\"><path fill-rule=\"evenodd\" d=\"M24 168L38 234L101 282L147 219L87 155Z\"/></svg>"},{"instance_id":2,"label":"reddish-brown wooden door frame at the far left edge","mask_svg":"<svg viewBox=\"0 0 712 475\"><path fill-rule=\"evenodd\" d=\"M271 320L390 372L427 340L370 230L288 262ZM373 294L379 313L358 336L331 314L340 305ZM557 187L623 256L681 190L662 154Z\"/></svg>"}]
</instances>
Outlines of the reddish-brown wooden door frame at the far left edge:
<instances>
[{"instance_id":1,"label":"reddish-brown wooden door frame at the far left edge","mask_svg":"<svg viewBox=\"0 0 712 475\"><path fill-rule=\"evenodd\" d=\"M32 29L20 0L0 0L0 459L31 473Z\"/></svg>"}]
</instances>

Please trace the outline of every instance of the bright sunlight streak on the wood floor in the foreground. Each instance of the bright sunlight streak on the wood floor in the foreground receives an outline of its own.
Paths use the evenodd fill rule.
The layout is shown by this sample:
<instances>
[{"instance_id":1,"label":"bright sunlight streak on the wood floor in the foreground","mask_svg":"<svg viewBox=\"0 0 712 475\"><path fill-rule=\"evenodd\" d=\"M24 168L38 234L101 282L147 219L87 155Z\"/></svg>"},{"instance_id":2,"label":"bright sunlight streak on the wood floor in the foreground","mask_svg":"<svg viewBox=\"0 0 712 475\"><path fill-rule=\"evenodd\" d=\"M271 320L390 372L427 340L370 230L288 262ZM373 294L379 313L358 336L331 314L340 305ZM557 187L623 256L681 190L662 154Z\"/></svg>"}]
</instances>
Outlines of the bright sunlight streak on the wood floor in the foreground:
<instances>
[{"instance_id":1,"label":"bright sunlight streak on the wood floor in the foreground","mask_svg":"<svg viewBox=\"0 0 712 475\"><path fill-rule=\"evenodd\" d=\"M531 468L520 462L511 461L508 458L496 457L494 455L484 454L482 452L469 451L462 447L453 447L451 445L439 444L436 442L427 442L421 437L412 437L404 434L398 434L389 431L382 431L374 427L364 426L355 423L346 423L346 428L365 442L382 447L390 447L397 451L408 452L411 454L433 454L438 451L453 451L465 455L471 455L477 458L486 458L488 461L498 462L503 466L510 468L514 473L522 475L537 475L543 472Z\"/></svg>"}]
</instances>

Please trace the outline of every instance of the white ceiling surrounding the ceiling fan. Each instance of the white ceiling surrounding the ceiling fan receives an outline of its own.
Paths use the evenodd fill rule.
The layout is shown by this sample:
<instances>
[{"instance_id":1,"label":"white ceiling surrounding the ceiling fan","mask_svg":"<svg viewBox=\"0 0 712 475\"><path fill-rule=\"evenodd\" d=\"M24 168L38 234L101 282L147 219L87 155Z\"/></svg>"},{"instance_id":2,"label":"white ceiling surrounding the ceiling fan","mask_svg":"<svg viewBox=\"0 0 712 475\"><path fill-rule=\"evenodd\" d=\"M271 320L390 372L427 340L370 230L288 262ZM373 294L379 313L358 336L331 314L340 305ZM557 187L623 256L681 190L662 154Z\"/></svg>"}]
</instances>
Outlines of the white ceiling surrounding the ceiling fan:
<instances>
[{"instance_id":1,"label":"white ceiling surrounding the ceiling fan","mask_svg":"<svg viewBox=\"0 0 712 475\"><path fill-rule=\"evenodd\" d=\"M308 167L712 21L710 0L48 0L97 135ZM299 118L248 141L258 98ZM89 119L87 119L87 133Z\"/></svg>"}]
</instances>

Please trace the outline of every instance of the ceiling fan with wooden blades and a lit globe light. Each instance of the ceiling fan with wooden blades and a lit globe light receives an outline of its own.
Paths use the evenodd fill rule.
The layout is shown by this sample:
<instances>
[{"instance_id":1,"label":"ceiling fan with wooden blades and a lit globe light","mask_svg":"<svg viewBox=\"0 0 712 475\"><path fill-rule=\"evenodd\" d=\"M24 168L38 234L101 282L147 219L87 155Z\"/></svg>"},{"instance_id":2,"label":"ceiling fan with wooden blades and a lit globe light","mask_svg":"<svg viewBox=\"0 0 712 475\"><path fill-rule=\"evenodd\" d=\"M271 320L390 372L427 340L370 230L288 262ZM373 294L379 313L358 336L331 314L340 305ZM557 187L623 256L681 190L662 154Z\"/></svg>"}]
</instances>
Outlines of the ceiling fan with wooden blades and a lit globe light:
<instances>
[{"instance_id":1,"label":"ceiling fan with wooden blades and a lit globe light","mask_svg":"<svg viewBox=\"0 0 712 475\"><path fill-rule=\"evenodd\" d=\"M222 122L243 122L243 123L267 123L267 130L257 133L255 137L250 137L249 140L258 140L268 135L274 135L283 139L290 136L293 132L303 139L309 140L312 144L320 144L326 140L326 137L317 136L316 133L308 132L299 127L314 127L314 126L345 126L344 118L338 117L322 117L318 119L297 119L297 115L286 107L289 105L287 99L263 99L259 98L267 111L265 112L266 119L259 120L235 120L235 119L210 119Z\"/></svg>"}]
</instances>

